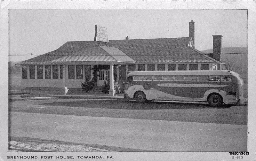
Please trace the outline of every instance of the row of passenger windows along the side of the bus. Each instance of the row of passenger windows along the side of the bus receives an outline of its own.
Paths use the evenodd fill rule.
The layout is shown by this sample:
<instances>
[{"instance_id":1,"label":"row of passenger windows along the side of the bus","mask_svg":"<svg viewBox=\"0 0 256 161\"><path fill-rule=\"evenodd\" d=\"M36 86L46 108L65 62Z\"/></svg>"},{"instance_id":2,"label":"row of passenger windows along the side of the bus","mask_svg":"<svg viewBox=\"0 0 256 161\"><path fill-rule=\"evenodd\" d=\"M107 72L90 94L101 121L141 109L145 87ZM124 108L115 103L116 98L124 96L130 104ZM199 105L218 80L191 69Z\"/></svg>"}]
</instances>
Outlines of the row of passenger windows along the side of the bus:
<instances>
[{"instance_id":1,"label":"row of passenger windows along the side of the bus","mask_svg":"<svg viewBox=\"0 0 256 161\"><path fill-rule=\"evenodd\" d=\"M232 81L227 76L133 76L133 81Z\"/></svg>"}]
</instances>

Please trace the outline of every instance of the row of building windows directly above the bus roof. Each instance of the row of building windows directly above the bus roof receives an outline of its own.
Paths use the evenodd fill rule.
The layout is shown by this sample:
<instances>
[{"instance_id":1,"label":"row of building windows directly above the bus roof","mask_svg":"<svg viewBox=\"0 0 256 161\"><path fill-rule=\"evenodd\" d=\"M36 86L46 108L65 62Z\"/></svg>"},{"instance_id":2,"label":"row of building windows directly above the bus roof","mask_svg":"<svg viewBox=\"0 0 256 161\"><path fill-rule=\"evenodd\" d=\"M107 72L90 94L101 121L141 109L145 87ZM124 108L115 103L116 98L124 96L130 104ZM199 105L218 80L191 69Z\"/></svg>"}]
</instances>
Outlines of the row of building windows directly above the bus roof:
<instances>
[{"instance_id":1,"label":"row of building windows directly above the bus roof","mask_svg":"<svg viewBox=\"0 0 256 161\"><path fill-rule=\"evenodd\" d=\"M209 64L201 64L201 70L209 70ZM155 64L148 64L148 71L155 71ZM157 64L158 71L165 70L165 64ZM176 65L175 64L168 64L167 65L168 71L175 71ZM178 70L187 70L187 64L178 64ZM198 70L197 64L189 64L189 70ZM128 71L135 71L135 64L128 65ZM145 71L145 64L138 64L138 71Z\"/></svg>"}]
</instances>

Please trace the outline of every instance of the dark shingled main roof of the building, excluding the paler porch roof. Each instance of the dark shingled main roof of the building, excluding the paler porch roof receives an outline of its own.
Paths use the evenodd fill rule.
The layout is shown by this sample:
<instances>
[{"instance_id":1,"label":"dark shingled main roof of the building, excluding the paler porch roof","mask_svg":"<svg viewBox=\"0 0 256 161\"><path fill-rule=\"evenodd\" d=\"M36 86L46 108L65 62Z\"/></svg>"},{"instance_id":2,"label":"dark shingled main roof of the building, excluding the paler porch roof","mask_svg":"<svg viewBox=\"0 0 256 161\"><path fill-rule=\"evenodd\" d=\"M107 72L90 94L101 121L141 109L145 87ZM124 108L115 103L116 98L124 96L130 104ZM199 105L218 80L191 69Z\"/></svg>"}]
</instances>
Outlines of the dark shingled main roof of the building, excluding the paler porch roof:
<instances>
[{"instance_id":1,"label":"dark shingled main roof of the building, excluding the paler porch roof","mask_svg":"<svg viewBox=\"0 0 256 161\"><path fill-rule=\"evenodd\" d=\"M216 63L217 60L204 55L202 52L188 46L189 37L161 38L161 39L133 39L133 40L109 40L109 46L113 49L98 49L96 41L66 42L57 50L34 57L19 64L59 64L57 60L65 60L63 57L82 56L115 56L112 51L123 52L136 63ZM116 49L117 48L117 49ZM121 50L121 51L119 51ZM105 52L104 52L105 51ZM108 53L110 52L110 53ZM107 54L106 54L107 53ZM112 55L111 55L112 53ZM91 58L91 57L90 57ZM67 60L67 59L66 59ZM90 59L91 60L91 59ZM106 59L112 60L112 59ZM219 63L219 62L218 62Z\"/></svg>"}]
</instances>

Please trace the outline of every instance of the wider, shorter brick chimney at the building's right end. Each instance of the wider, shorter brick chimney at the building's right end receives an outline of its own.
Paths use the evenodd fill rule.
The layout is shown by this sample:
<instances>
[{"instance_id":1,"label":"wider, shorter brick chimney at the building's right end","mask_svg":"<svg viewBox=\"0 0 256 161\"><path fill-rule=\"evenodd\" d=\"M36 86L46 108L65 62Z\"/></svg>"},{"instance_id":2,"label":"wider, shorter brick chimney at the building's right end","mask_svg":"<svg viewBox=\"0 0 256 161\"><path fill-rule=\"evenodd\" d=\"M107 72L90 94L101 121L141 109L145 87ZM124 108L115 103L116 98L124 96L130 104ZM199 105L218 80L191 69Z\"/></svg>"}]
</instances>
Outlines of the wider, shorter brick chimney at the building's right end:
<instances>
[{"instance_id":1,"label":"wider, shorter brick chimney at the building's right end","mask_svg":"<svg viewBox=\"0 0 256 161\"><path fill-rule=\"evenodd\" d=\"M212 58L220 61L222 35L212 35Z\"/></svg>"}]
</instances>

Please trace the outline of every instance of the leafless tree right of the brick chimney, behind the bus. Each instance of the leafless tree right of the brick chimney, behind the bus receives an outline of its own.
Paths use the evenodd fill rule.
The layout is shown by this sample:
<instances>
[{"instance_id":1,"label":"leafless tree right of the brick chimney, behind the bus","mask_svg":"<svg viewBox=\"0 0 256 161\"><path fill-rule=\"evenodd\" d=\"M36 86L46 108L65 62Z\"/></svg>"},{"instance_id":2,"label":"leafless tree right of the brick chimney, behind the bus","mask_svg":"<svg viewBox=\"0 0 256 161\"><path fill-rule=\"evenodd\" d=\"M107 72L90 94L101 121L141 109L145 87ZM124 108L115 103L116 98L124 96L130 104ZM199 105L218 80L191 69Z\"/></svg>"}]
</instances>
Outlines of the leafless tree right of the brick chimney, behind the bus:
<instances>
[{"instance_id":1,"label":"leafless tree right of the brick chimney, behind the bus","mask_svg":"<svg viewBox=\"0 0 256 161\"><path fill-rule=\"evenodd\" d=\"M242 65L238 64L236 61L236 56L228 57L228 58L221 58L221 62L225 63L224 67L227 70L231 71L238 71L242 69Z\"/></svg>"}]
</instances>

